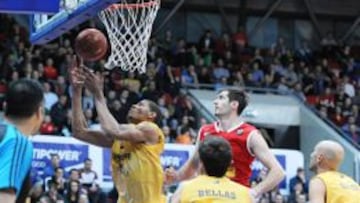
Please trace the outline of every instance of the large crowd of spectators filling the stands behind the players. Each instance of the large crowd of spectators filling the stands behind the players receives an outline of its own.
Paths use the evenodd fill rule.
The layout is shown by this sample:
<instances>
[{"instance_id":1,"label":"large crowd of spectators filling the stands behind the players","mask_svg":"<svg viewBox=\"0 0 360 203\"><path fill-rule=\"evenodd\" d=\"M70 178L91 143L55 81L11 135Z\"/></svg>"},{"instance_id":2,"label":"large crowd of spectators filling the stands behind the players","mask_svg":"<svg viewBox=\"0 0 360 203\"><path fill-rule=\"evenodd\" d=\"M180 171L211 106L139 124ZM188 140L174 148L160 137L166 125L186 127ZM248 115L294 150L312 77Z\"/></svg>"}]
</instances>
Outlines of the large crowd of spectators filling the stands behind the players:
<instances>
[{"instance_id":1,"label":"large crowd of spectators filling the stands behind the players","mask_svg":"<svg viewBox=\"0 0 360 203\"><path fill-rule=\"evenodd\" d=\"M71 136L71 86L67 74L75 54L73 40L80 28L50 44L33 46L28 41L27 30L13 18L0 15L0 22L0 98L11 81L23 77L39 80L45 90L46 108L40 133ZM86 27L94 26L94 22L86 24ZM104 87L108 106L120 123L126 122L126 113L133 103L150 99L161 107L164 119L160 127L167 142L192 144L196 129L206 121L197 122L199 118L193 104L181 93L184 84L195 88L208 84L215 89L226 85L261 87L293 93L339 126L354 144L360 143L359 49L339 44L331 34L324 37L317 49L306 42L299 49L291 49L282 38L269 48L259 49L248 46L243 32L215 36L207 30L199 36L198 42L190 43L175 39L171 31L166 31L150 39L147 54L145 74L120 69L107 71L104 60L86 63L95 71L106 73ZM95 127L97 115L88 91L84 92L83 108L88 125ZM61 170L55 170L54 174L61 174ZM80 177L80 174L70 171L69 177ZM71 191L75 185L77 190L73 192L88 194L89 190L79 193L80 182L75 179L66 183L70 190L59 194L73 198ZM58 186L53 183L50 181L46 187L50 196L54 195L51 193L53 186ZM294 188L300 188L300 184L295 185L299 186ZM301 188L304 190L305 185ZM280 198L276 191L270 196L264 199L281 202L275 200Z\"/></svg>"}]
</instances>

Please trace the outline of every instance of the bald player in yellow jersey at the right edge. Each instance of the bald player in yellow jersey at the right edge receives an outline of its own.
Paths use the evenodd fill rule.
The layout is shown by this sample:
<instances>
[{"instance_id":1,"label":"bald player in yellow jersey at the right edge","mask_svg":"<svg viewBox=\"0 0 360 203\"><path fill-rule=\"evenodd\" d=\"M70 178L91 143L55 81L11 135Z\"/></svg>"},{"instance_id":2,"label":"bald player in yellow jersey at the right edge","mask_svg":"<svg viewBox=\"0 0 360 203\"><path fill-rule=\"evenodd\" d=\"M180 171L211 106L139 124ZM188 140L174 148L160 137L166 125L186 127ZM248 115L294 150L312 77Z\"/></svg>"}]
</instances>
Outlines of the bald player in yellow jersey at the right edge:
<instances>
[{"instance_id":1,"label":"bald player in yellow jersey at the right edge","mask_svg":"<svg viewBox=\"0 0 360 203\"><path fill-rule=\"evenodd\" d=\"M338 172L344 158L344 148L337 142L319 142L311 154L310 170L316 176L310 181L311 203L359 203L360 186Z\"/></svg>"}]
</instances>

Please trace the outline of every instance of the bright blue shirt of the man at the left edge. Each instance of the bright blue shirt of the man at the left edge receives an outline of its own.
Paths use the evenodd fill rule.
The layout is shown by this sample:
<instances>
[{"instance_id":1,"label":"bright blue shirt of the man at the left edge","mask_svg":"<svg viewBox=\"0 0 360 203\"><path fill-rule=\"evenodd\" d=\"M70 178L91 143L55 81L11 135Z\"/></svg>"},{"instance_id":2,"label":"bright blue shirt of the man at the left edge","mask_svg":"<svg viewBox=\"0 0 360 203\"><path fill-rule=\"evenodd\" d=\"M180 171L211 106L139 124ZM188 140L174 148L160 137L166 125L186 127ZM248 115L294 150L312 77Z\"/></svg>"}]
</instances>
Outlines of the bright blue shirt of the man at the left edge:
<instances>
[{"instance_id":1,"label":"bright blue shirt of the man at the left edge","mask_svg":"<svg viewBox=\"0 0 360 203\"><path fill-rule=\"evenodd\" d=\"M0 124L0 189L14 189L19 195L29 174L33 145L15 126Z\"/></svg>"}]
</instances>

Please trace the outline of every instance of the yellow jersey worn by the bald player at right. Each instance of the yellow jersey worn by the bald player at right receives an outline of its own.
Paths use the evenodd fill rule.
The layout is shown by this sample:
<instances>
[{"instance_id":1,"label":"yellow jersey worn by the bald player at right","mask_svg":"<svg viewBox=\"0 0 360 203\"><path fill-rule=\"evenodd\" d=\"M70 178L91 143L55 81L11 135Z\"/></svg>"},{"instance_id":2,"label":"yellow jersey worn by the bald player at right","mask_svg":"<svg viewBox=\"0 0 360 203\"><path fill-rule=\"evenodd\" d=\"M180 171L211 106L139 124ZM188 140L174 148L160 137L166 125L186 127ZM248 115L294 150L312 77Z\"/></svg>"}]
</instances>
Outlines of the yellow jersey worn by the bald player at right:
<instances>
[{"instance_id":1,"label":"yellow jersey worn by the bald player at right","mask_svg":"<svg viewBox=\"0 0 360 203\"><path fill-rule=\"evenodd\" d=\"M317 175L326 187L326 203L359 203L360 186L345 174L328 171Z\"/></svg>"}]
</instances>

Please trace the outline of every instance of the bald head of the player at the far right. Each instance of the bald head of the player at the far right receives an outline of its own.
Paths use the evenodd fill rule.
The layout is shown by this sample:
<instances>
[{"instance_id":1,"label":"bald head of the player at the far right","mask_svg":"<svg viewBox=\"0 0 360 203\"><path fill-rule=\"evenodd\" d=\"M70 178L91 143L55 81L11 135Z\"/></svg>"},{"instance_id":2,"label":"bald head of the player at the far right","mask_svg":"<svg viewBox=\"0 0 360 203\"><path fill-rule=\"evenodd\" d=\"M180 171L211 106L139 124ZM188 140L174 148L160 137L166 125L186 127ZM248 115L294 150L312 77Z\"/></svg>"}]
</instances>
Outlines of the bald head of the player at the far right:
<instances>
[{"instance_id":1,"label":"bald head of the player at the far right","mask_svg":"<svg viewBox=\"0 0 360 203\"><path fill-rule=\"evenodd\" d=\"M344 158L344 148L332 140L324 140L315 146L318 155L323 155L329 169L337 169Z\"/></svg>"}]
</instances>

